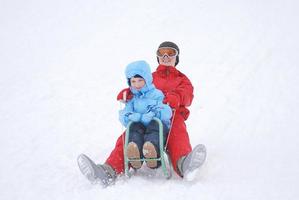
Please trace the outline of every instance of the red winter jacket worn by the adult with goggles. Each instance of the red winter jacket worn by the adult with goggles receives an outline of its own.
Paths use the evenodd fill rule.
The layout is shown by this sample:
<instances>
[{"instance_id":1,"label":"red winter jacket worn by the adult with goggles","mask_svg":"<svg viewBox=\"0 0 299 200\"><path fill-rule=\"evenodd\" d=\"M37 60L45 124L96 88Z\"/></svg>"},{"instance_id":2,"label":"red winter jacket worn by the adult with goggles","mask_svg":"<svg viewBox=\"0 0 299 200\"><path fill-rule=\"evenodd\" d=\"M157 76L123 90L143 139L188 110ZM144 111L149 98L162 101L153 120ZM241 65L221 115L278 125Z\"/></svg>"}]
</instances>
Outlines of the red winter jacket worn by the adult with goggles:
<instances>
[{"instance_id":1,"label":"red winter jacket worn by the adult with goggles","mask_svg":"<svg viewBox=\"0 0 299 200\"><path fill-rule=\"evenodd\" d=\"M186 107L190 106L193 100L193 86L187 76L175 67L159 65L153 72L153 82L165 96L172 93L179 97L180 106L177 113L180 113L186 120L189 116L189 110ZM125 92L127 93L126 100L130 99L130 90L127 88L118 94L117 100L123 100Z\"/></svg>"}]
</instances>

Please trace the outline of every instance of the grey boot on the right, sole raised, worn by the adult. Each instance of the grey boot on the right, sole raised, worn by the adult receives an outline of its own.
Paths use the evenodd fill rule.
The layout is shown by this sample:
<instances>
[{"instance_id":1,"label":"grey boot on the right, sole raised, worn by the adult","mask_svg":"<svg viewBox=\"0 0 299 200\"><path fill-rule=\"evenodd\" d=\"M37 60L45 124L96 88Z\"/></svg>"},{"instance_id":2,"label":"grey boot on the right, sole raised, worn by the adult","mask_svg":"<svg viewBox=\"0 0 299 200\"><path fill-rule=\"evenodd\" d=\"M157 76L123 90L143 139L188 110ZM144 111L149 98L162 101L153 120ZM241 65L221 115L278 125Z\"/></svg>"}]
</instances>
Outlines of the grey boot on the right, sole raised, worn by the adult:
<instances>
[{"instance_id":1,"label":"grey boot on the right, sole raised, worn by the adult","mask_svg":"<svg viewBox=\"0 0 299 200\"><path fill-rule=\"evenodd\" d=\"M206 160L207 151L203 144L196 145L192 152L181 158L178 162L178 168L184 179L192 181L200 167Z\"/></svg>"}]
</instances>

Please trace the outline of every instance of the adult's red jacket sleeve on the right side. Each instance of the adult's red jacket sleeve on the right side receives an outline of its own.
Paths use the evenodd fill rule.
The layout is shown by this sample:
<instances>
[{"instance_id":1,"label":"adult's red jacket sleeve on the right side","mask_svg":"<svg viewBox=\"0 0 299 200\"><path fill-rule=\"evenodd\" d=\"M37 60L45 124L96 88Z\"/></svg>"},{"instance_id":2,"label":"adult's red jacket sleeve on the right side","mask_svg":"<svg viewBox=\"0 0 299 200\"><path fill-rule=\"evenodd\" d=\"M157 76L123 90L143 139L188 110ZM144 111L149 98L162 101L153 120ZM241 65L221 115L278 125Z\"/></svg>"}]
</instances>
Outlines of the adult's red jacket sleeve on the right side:
<instances>
[{"instance_id":1,"label":"adult's red jacket sleeve on the right side","mask_svg":"<svg viewBox=\"0 0 299 200\"><path fill-rule=\"evenodd\" d=\"M186 75L182 74L181 83L170 92L180 99L180 106L190 106L193 100L193 85ZM167 95L167 94L166 94Z\"/></svg>"}]
</instances>

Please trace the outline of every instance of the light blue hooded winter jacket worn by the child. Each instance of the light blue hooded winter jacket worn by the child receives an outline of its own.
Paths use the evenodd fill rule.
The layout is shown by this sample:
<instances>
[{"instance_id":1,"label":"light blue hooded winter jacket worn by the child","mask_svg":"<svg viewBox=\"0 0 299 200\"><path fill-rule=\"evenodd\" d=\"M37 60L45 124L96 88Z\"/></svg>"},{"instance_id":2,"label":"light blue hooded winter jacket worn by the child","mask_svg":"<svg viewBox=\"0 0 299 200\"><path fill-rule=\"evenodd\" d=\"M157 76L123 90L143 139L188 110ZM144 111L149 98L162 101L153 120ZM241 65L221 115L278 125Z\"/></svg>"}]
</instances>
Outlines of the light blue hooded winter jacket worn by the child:
<instances>
[{"instance_id":1,"label":"light blue hooded winter jacket worn by the child","mask_svg":"<svg viewBox=\"0 0 299 200\"><path fill-rule=\"evenodd\" d=\"M125 70L128 84L130 78L135 75L140 75L145 80L145 85L139 91L130 87L133 93L133 98L126 103L123 110L119 112L119 120L127 126L129 123L129 115L133 113L140 113L140 122L145 126L148 125L148 121L142 120L142 115L153 112L154 116L159 118L168 128L170 127L170 118L172 116L171 108L163 104L164 94L156 89L153 82L153 76L150 70L150 66L145 61L135 61L130 63ZM130 84L129 84L130 86Z\"/></svg>"}]
</instances>

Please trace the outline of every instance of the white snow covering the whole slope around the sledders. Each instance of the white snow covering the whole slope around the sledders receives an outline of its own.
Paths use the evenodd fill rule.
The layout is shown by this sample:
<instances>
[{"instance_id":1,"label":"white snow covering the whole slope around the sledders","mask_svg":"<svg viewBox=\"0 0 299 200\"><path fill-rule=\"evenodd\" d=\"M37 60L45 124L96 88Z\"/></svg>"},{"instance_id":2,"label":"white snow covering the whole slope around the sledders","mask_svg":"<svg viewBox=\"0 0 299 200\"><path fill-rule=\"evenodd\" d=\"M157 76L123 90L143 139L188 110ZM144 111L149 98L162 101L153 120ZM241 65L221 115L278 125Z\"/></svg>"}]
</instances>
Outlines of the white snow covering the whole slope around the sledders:
<instances>
[{"instance_id":1,"label":"white snow covering the whole slope around the sledders","mask_svg":"<svg viewBox=\"0 0 299 200\"><path fill-rule=\"evenodd\" d=\"M298 199L298 4L2 0L1 199ZM207 162L192 182L141 171L90 185L77 156L105 161L124 68L154 70L165 40L194 84L187 126Z\"/></svg>"}]
</instances>

